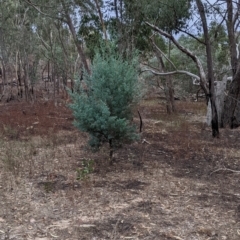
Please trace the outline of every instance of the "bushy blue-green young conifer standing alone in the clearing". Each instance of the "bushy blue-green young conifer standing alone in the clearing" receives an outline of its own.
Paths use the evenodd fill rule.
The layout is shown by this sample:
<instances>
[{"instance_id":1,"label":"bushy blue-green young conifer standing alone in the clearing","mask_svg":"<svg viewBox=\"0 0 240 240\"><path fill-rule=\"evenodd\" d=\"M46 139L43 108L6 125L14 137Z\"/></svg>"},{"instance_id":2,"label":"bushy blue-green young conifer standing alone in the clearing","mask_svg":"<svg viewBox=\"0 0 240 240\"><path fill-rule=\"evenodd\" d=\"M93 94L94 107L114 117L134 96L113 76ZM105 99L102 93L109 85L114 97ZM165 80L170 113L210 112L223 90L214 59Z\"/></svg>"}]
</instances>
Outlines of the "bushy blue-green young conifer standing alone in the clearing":
<instances>
[{"instance_id":1,"label":"bushy blue-green young conifer standing alone in the clearing","mask_svg":"<svg viewBox=\"0 0 240 240\"><path fill-rule=\"evenodd\" d=\"M108 142L111 163L114 149L138 139L132 122L133 107L141 97L136 58L123 59L111 49L98 52L91 74L76 85L70 105L74 124L89 133L93 149Z\"/></svg>"}]
</instances>

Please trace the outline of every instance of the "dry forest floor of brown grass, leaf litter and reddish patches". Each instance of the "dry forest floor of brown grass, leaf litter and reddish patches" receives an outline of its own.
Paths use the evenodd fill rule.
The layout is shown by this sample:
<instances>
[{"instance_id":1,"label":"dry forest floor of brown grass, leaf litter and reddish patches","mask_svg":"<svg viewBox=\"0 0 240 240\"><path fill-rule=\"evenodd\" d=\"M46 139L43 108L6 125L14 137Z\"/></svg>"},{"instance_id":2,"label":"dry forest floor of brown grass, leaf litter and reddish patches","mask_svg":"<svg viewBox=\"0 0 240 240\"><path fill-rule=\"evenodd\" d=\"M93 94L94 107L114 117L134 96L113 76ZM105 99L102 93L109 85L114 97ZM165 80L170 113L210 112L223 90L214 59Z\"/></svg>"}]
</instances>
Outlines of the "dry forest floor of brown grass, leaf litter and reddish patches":
<instances>
[{"instance_id":1,"label":"dry forest floor of brown grass, leaf litter and reddish patches","mask_svg":"<svg viewBox=\"0 0 240 240\"><path fill-rule=\"evenodd\" d=\"M204 103L176 104L143 101L111 166L66 107L0 105L0 239L239 240L240 130L213 139Z\"/></svg>"}]
</instances>

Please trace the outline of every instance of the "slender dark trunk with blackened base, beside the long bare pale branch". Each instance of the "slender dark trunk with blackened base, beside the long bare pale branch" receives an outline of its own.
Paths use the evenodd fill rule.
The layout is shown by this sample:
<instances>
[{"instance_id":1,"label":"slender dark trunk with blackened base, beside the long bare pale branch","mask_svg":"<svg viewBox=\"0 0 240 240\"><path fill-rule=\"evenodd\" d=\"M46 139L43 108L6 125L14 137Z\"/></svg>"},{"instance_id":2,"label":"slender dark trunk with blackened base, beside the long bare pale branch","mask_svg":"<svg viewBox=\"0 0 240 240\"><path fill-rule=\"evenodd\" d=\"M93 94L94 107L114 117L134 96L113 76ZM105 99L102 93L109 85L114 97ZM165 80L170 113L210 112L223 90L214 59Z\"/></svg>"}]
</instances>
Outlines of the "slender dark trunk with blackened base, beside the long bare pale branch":
<instances>
[{"instance_id":1,"label":"slender dark trunk with blackened base, beside the long bare pale branch","mask_svg":"<svg viewBox=\"0 0 240 240\"><path fill-rule=\"evenodd\" d=\"M213 137L219 137L219 126L218 126L218 114L216 107L216 95L214 89L214 73L213 73L213 61L212 61L212 49L211 42L208 33L207 19L205 15L205 9L201 0L196 0L198 11L201 17L204 40L206 44L206 54L207 54L207 69L208 69L208 84L209 84L209 98L211 102L212 110L212 135Z\"/></svg>"}]
</instances>

